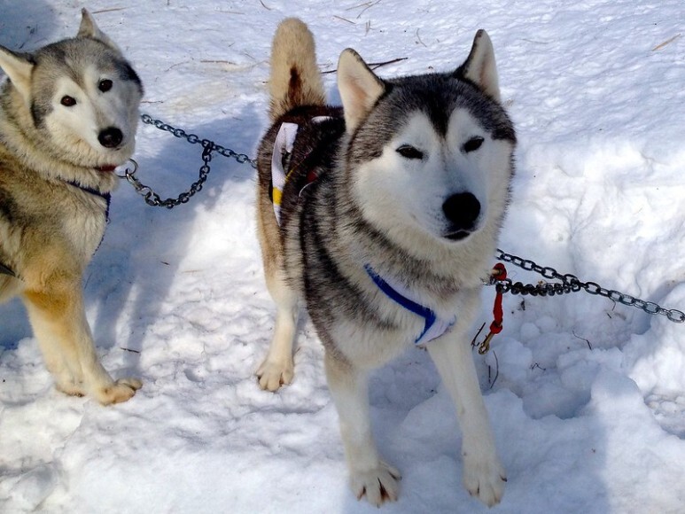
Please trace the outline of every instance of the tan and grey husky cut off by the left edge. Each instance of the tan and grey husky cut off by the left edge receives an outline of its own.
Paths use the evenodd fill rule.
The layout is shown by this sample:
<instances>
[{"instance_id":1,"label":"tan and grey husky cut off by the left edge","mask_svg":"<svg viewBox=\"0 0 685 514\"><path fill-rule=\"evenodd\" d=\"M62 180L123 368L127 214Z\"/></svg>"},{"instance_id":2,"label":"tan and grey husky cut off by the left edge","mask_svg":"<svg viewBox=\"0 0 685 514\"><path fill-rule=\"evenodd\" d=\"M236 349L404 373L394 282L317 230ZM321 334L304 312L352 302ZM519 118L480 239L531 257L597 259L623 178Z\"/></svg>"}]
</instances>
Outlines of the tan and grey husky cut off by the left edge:
<instances>
[{"instance_id":1,"label":"tan and grey husky cut off by the left edge","mask_svg":"<svg viewBox=\"0 0 685 514\"><path fill-rule=\"evenodd\" d=\"M142 385L100 364L82 274L105 233L114 167L131 156L143 87L82 11L78 35L0 47L0 300L19 295L57 388L103 404Z\"/></svg>"}]
</instances>

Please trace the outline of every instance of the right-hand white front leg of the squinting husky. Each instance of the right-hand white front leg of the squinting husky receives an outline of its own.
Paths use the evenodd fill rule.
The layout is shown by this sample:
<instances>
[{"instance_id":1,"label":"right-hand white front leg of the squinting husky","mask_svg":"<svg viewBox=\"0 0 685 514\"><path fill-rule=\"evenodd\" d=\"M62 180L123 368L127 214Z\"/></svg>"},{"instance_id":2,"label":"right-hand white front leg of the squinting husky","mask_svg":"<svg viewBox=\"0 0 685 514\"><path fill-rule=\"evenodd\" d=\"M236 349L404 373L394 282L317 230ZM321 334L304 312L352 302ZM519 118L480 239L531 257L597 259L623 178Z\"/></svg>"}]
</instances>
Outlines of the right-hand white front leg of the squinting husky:
<instances>
[{"instance_id":1,"label":"right-hand white front leg of the squinting husky","mask_svg":"<svg viewBox=\"0 0 685 514\"><path fill-rule=\"evenodd\" d=\"M455 335L460 337L455 339ZM446 334L426 346L440 378L455 401L463 437L464 486L470 495L492 507L502 500L507 478L494 446L471 345L463 335L456 331L456 334Z\"/></svg>"}]
</instances>

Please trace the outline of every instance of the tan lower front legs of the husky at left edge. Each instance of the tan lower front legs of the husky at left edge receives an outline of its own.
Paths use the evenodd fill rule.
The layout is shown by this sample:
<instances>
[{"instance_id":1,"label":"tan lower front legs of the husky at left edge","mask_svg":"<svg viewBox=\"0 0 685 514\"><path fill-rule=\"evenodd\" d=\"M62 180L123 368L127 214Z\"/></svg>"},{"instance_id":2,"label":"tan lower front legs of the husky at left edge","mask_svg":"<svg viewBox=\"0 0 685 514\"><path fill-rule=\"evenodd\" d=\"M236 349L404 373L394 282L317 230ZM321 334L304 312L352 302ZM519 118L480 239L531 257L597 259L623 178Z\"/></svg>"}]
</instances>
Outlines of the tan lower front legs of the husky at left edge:
<instances>
[{"instance_id":1,"label":"tan lower front legs of the husky at left edge","mask_svg":"<svg viewBox=\"0 0 685 514\"><path fill-rule=\"evenodd\" d=\"M143 385L137 378L115 382L100 364L78 280L74 284L53 282L50 291L25 291L24 300L58 390L77 396L90 394L108 405L127 401Z\"/></svg>"}]
</instances>

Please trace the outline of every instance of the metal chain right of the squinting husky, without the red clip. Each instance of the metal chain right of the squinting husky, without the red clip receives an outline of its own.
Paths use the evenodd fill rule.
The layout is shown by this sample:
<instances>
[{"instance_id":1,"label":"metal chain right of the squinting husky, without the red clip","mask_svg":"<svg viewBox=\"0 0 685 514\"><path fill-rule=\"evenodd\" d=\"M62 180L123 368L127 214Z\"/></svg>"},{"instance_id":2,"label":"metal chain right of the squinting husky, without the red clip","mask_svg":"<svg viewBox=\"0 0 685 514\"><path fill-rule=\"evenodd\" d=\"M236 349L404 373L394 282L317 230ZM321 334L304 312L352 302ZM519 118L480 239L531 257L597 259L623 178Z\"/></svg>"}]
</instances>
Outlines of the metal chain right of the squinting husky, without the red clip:
<instances>
[{"instance_id":1,"label":"metal chain right of the squinting husky, without the red clip","mask_svg":"<svg viewBox=\"0 0 685 514\"><path fill-rule=\"evenodd\" d=\"M509 278L505 280L494 280L492 284L497 287L498 292L511 292L512 294L530 294L532 296L554 296L555 294L566 294L569 292L585 291L588 294L603 296L609 300L613 300L622 305L642 309L647 314L665 315L669 321L673 323L685 323L685 313L674 308L662 308L653 301L645 301L635 298L625 292L614 291L612 289L604 289L601 285L595 282L581 282L580 279L571 274L562 275L554 268L539 266L533 261L522 259L517 255L504 253L499 248L495 255L498 261L510 262L514 266L525 269L526 271L535 271L541 276L549 279L561 281L559 283L541 282L539 284L522 284L521 282L513 283Z\"/></svg>"}]
</instances>

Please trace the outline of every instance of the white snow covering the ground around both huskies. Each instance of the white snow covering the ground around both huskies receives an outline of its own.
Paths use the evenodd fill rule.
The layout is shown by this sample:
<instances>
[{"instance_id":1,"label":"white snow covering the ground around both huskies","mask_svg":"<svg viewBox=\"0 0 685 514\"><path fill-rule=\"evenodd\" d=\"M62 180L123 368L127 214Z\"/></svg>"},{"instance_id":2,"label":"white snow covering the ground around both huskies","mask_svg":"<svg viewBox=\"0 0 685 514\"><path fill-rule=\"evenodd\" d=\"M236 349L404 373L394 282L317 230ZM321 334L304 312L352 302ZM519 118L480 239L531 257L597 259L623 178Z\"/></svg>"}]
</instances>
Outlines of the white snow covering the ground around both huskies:
<instances>
[{"instance_id":1,"label":"white snow covering the ground around both huskies","mask_svg":"<svg viewBox=\"0 0 685 514\"><path fill-rule=\"evenodd\" d=\"M370 62L407 58L382 76L453 69L486 28L519 139L500 247L685 308L681 0L0 0L0 44L73 35L84 5L136 66L144 113L249 155L267 126L280 19L307 21L323 71L347 46ZM139 129L138 175L163 197L196 180L199 155ZM56 392L23 308L0 307L1 511L376 511L347 489L308 320L292 385L256 385L274 309L254 172L221 156L211 166L205 189L172 211L122 184L85 277L105 367L144 380L131 401L105 408ZM483 292L482 322L493 296ZM504 308L492 351L474 353L509 479L492 511L685 511L685 325L583 292L505 295ZM399 502L383 510L486 511L463 489L454 408L427 354L409 350L370 390L379 448L403 474Z\"/></svg>"}]
</instances>

